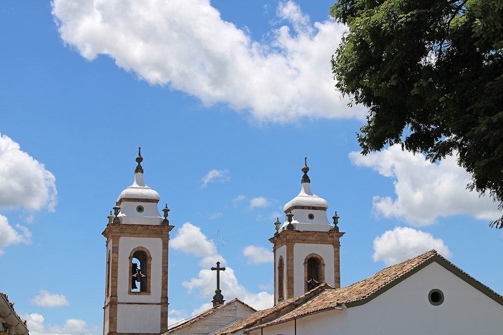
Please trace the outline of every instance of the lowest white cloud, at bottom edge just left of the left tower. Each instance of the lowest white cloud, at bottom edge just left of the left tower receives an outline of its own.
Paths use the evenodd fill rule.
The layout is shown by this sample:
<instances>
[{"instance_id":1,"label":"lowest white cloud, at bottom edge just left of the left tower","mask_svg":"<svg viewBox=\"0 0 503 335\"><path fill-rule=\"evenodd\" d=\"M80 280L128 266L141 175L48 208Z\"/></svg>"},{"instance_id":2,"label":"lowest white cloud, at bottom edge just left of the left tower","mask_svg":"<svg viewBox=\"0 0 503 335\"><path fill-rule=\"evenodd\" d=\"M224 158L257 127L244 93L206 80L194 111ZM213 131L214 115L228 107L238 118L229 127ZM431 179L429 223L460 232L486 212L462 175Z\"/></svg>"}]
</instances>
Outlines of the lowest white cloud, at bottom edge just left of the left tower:
<instances>
[{"instance_id":1,"label":"lowest white cloud, at bottom edge just left of the left tower","mask_svg":"<svg viewBox=\"0 0 503 335\"><path fill-rule=\"evenodd\" d=\"M91 335L99 334L98 326L88 327L86 321L80 319L67 319L63 325L46 327L44 317L40 314L25 314L22 316L27 321L31 335Z\"/></svg>"}]
</instances>

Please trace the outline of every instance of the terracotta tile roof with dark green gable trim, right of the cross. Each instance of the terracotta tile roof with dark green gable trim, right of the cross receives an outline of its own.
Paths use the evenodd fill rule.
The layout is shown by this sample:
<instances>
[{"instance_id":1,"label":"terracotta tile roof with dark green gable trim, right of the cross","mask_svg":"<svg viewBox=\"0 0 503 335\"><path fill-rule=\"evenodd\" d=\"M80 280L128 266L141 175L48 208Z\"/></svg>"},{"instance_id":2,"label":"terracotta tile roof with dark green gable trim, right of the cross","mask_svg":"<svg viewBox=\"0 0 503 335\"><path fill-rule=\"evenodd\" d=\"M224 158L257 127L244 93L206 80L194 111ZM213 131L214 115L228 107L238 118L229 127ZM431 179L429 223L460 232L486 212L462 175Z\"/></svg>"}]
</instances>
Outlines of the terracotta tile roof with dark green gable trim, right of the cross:
<instances>
[{"instance_id":1,"label":"terracotta tile roof with dark green gable trim, right of the cross","mask_svg":"<svg viewBox=\"0 0 503 335\"><path fill-rule=\"evenodd\" d=\"M251 314L249 317L222 329L215 335L234 333L241 329L247 332L305 315L339 309L342 306L349 308L364 304L434 261L503 305L501 295L469 276L439 255L437 251L431 250L402 263L389 266L367 279L340 289L322 284L297 298L288 299L272 308Z\"/></svg>"}]
</instances>

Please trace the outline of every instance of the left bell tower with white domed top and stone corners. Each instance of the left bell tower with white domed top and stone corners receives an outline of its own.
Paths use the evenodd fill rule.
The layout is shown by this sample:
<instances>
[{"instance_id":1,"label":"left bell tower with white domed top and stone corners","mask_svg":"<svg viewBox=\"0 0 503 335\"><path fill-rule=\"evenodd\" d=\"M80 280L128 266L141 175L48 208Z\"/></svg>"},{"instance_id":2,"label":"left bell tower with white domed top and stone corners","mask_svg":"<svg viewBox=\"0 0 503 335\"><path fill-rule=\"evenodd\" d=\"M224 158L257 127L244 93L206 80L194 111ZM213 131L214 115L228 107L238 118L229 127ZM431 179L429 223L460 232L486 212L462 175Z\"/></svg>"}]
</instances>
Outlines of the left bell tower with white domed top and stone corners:
<instances>
[{"instance_id":1,"label":"left bell tower with white domed top and stone corners","mask_svg":"<svg viewBox=\"0 0 503 335\"><path fill-rule=\"evenodd\" d=\"M117 198L107 239L104 335L159 334L167 330L170 211L160 216L159 194L143 182L140 148L134 182Z\"/></svg>"}]
</instances>

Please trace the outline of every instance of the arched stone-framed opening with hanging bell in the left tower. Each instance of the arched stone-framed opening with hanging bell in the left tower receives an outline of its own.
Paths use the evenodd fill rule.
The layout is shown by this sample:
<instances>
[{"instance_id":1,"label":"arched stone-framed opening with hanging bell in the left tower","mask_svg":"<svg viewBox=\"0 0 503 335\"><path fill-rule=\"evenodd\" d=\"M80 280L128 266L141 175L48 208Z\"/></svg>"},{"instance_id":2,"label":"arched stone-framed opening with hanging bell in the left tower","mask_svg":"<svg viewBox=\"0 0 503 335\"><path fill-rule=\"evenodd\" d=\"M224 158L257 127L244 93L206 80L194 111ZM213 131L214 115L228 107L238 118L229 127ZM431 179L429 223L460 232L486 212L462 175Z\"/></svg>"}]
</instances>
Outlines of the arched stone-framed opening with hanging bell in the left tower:
<instances>
[{"instance_id":1,"label":"arched stone-framed opening with hanging bell in the left tower","mask_svg":"<svg viewBox=\"0 0 503 335\"><path fill-rule=\"evenodd\" d=\"M150 292L150 253L138 247L129 254L129 292Z\"/></svg>"}]
</instances>

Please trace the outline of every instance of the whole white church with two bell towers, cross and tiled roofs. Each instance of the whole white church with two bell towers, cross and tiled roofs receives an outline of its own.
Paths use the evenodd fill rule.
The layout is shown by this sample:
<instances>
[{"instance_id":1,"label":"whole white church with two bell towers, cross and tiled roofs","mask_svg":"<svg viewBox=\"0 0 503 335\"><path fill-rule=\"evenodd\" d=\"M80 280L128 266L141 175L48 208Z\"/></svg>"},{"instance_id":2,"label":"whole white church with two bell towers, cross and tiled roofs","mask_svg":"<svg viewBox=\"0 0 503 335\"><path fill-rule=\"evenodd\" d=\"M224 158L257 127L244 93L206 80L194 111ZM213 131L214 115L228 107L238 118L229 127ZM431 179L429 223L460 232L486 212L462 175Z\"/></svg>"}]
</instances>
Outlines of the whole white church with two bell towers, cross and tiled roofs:
<instances>
[{"instance_id":1,"label":"whole white church with two bell towers, cross and tiled roofs","mask_svg":"<svg viewBox=\"0 0 503 335\"><path fill-rule=\"evenodd\" d=\"M140 149L134 182L110 212L106 238L104 335L362 333L494 334L503 331L503 297L431 250L341 288L337 212L311 191L307 158L300 193L275 222L274 306L255 310L238 298L168 327L167 205L146 186Z\"/></svg>"}]
</instances>

